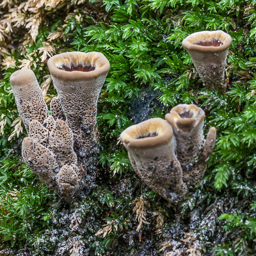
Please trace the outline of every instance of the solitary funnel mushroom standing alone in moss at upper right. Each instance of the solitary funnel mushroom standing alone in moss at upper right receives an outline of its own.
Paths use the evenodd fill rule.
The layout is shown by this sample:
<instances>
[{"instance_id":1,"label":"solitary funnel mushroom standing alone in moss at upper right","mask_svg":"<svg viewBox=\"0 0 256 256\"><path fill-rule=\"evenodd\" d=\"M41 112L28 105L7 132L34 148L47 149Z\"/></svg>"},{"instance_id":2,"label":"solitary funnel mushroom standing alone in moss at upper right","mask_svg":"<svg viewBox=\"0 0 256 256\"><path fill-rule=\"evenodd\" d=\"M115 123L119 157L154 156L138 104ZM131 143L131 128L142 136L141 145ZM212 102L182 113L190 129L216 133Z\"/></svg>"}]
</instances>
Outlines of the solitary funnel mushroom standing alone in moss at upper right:
<instances>
[{"instance_id":1,"label":"solitary funnel mushroom standing alone in moss at upper right","mask_svg":"<svg viewBox=\"0 0 256 256\"><path fill-rule=\"evenodd\" d=\"M225 66L232 38L218 31L200 31L189 35L182 42L205 86L225 92Z\"/></svg>"}]
</instances>

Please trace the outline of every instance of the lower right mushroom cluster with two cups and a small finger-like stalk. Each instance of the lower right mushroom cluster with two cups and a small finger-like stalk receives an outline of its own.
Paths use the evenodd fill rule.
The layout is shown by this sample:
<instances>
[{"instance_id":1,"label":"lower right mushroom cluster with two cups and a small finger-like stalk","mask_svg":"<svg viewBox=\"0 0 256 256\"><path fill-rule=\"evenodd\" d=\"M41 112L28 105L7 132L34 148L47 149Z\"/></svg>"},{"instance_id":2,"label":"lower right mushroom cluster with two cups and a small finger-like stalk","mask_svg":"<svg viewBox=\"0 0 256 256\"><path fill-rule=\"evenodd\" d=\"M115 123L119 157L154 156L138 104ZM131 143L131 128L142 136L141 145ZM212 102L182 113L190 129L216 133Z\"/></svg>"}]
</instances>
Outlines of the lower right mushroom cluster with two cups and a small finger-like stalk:
<instances>
[{"instance_id":1,"label":"lower right mushroom cluster with two cups and a small finger-like stalk","mask_svg":"<svg viewBox=\"0 0 256 256\"><path fill-rule=\"evenodd\" d=\"M199 182L214 148L216 129L211 127L204 140L204 116L201 108L180 104L166 114L166 120L152 118L120 135L134 171L174 204Z\"/></svg>"}]
</instances>

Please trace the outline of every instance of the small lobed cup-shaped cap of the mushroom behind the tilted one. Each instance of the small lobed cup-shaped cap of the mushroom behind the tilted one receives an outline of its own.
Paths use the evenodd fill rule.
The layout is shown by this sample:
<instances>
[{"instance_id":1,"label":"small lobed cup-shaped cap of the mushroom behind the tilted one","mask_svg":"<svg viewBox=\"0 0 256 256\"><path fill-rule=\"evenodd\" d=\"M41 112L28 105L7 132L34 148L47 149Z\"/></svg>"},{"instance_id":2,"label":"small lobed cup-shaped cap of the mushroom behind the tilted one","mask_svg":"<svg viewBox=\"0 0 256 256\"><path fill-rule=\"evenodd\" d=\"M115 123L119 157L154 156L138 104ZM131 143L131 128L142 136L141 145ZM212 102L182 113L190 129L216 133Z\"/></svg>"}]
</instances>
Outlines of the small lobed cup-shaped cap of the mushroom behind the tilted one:
<instances>
[{"instance_id":1,"label":"small lobed cup-shaped cap of the mushroom behind the tilted one","mask_svg":"<svg viewBox=\"0 0 256 256\"><path fill-rule=\"evenodd\" d=\"M165 115L166 120L173 129L184 133L190 133L198 126L202 126L204 110L196 105L180 104L172 108L170 113Z\"/></svg>"}]
</instances>

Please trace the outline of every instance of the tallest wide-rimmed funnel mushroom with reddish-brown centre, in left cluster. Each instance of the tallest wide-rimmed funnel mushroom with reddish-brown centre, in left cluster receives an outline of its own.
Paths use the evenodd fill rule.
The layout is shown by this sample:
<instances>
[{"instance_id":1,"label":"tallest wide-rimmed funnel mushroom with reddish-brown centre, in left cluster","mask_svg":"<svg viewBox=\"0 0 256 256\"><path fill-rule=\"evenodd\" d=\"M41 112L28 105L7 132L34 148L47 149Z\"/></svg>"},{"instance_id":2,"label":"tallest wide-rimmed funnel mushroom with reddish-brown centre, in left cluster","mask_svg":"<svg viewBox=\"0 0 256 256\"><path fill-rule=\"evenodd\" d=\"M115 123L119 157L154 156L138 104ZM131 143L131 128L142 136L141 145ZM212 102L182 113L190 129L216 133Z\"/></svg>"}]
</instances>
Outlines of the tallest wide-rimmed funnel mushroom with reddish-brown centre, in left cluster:
<instances>
[{"instance_id":1,"label":"tallest wide-rimmed funnel mushroom with reddish-brown centre, in left cluster","mask_svg":"<svg viewBox=\"0 0 256 256\"><path fill-rule=\"evenodd\" d=\"M76 145L84 156L98 152L97 100L110 65L100 52L66 52L47 62L54 87L72 129Z\"/></svg>"}]
</instances>

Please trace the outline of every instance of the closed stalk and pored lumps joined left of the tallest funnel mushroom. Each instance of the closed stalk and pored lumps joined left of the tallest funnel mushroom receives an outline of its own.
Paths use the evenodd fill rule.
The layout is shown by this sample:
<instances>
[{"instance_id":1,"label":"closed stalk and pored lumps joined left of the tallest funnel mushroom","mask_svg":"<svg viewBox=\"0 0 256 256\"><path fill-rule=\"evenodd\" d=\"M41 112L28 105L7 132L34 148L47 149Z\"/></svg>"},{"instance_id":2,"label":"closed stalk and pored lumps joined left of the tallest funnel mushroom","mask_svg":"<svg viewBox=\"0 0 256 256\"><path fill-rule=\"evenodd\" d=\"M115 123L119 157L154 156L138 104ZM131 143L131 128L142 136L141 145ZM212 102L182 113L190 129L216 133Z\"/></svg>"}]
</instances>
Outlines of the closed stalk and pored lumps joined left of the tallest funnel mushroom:
<instances>
[{"instance_id":1,"label":"closed stalk and pored lumps joined left of the tallest funnel mushroom","mask_svg":"<svg viewBox=\"0 0 256 256\"><path fill-rule=\"evenodd\" d=\"M79 169L75 165L77 156L73 148L74 137L70 127L65 121L60 119L55 121L49 115L42 90L32 70L16 71L10 77L10 83L20 116L29 134L29 137L24 138L22 142L24 162L49 188L60 193L67 202L71 202L79 188L79 172L74 173ZM61 117L63 111L60 111L58 99L54 100L51 107L52 114ZM55 110L58 113L54 113ZM60 173L67 164L72 165L72 184L76 186L65 185L68 189L63 189L63 182L70 180L70 176L64 177L65 172L61 172L62 182L60 182L60 175L56 174Z\"/></svg>"}]
</instances>

